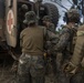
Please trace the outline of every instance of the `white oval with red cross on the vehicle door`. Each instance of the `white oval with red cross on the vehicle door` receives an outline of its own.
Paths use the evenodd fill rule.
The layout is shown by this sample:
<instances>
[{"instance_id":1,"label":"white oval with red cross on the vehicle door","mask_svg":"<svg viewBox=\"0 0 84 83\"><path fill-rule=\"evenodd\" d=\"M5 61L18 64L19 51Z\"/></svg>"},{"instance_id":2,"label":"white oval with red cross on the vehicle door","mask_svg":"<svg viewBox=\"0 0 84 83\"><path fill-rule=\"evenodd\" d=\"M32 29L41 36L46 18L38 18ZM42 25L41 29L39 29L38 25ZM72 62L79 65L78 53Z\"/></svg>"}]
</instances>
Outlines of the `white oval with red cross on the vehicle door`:
<instances>
[{"instance_id":1,"label":"white oval with red cross on the vehicle door","mask_svg":"<svg viewBox=\"0 0 84 83\"><path fill-rule=\"evenodd\" d=\"M9 34L11 34L13 25L14 25L13 11L9 10L8 15L7 15L7 29L8 29Z\"/></svg>"}]
</instances>

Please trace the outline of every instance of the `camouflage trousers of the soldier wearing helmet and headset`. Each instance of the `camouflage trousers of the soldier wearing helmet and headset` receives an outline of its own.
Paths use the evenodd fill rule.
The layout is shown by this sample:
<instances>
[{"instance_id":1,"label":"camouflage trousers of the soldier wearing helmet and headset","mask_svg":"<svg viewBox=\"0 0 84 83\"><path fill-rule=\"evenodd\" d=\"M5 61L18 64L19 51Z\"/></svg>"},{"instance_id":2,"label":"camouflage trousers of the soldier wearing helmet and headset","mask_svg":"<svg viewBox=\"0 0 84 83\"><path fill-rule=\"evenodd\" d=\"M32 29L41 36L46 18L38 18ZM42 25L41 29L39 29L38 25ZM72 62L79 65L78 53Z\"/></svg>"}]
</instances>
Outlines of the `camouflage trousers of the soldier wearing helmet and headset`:
<instances>
[{"instance_id":1,"label":"camouflage trousers of the soldier wearing helmet and headset","mask_svg":"<svg viewBox=\"0 0 84 83\"><path fill-rule=\"evenodd\" d=\"M70 83L70 76L66 76L63 71L63 55L62 53L56 54L56 83Z\"/></svg>"}]
</instances>

